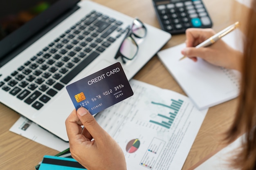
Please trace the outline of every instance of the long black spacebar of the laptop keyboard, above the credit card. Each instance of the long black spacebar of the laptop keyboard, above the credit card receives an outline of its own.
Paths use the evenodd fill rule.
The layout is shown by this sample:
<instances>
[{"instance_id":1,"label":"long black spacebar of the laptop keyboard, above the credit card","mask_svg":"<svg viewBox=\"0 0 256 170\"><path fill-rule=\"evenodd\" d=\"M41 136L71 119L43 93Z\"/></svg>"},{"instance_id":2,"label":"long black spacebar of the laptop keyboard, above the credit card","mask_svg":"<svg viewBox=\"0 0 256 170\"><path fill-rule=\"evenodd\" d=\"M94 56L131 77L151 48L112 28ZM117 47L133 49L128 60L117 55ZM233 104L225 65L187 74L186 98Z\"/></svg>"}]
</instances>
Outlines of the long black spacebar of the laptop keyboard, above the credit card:
<instances>
[{"instance_id":1,"label":"long black spacebar of the laptop keyboard, above the credit card","mask_svg":"<svg viewBox=\"0 0 256 170\"><path fill-rule=\"evenodd\" d=\"M99 53L93 51L88 57L86 57L82 62L80 62L72 71L67 73L62 79L61 82L67 84L72 80L80 71L83 70L87 65L89 65L96 57L99 56Z\"/></svg>"}]
</instances>

